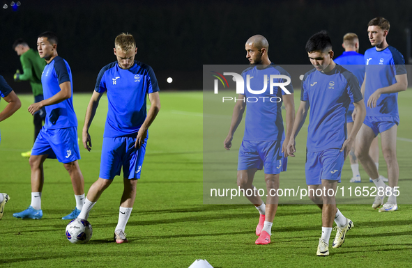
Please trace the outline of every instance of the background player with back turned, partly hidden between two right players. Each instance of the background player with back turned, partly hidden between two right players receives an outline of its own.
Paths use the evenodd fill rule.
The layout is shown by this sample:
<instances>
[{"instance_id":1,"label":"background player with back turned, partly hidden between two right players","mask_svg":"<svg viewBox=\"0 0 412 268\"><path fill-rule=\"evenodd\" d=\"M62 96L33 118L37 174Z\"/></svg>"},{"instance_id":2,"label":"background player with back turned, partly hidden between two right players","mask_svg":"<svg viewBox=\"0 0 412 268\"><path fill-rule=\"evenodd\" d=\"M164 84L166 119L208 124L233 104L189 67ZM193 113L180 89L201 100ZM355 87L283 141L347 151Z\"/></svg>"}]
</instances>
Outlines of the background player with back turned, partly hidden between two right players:
<instances>
[{"instance_id":1,"label":"background player with back turned, partly hidden between two right players","mask_svg":"<svg viewBox=\"0 0 412 268\"><path fill-rule=\"evenodd\" d=\"M356 78L359 81L359 86L362 86L363 79L365 78L365 61L362 54L359 54L359 38L356 33L346 33L344 35L344 40L342 47L345 49L345 52L335 58L334 62L343 65L346 70L355 74ZM353 127L353 118L352 113L355 107L352 103L349 104L349 110L346 113L346 126L348 127L348 133L351 133ZM355 155L356 141L353 141L351 152L349 152L349 160L351 161L351 169L353 177L349 182L361 182L360 173L359 173L359 164L358 159ZM376 168L379 169L379 144L378 137L372 141L371 148L369 150L369 155L375 161ZM388 182L388 179L379 175L379 178L383 182ZM372 178L369 178L369 182L372 182Z\"/></svg>"}]
</instances>

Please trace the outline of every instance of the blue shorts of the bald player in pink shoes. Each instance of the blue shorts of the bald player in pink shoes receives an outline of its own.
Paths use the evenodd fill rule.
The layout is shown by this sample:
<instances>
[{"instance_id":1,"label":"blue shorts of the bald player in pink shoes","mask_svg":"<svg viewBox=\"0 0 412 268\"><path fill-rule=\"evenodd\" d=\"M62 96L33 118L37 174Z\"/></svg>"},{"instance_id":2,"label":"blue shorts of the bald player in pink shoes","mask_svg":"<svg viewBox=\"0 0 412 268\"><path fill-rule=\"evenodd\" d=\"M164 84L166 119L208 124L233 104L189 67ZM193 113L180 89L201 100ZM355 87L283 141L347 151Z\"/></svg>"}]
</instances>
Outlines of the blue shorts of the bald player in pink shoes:
<instances>
[{"instance_id":1,"label":"blue shorts of the bald player in pink shoes","mask_svg":"<svg viewBox=\"0 0 412 268\"><path fill-rule=\"evenodd\" d=\"M265 168L265 174L279 174L287 169L282 153L283 141L242 141L239 149L238 171Z\"/></svg>"}]
</instances>

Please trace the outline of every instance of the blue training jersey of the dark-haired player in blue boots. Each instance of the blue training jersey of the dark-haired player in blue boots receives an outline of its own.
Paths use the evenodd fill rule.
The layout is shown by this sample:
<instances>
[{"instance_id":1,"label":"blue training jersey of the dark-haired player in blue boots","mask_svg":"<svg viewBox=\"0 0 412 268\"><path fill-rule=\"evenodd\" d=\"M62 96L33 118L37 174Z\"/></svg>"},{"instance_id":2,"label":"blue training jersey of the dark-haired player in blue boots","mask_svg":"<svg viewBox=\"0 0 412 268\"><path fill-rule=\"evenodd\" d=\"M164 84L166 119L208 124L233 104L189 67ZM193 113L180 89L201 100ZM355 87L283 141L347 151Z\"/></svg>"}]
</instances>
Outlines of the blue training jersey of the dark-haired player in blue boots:
<instances>
[{"instance_id":1,"label":"blue training jersey of the dark-haired player in blue boots","mask_svg":"<svg viewBox=\"0 0 412 268\"><path fill-rule=\"evenodd\" d=\"M42 73L43 96L46 99L53 97L61 91L60 84L70 81L71 96L63 102L45 106L45 129L60 129L77 127L77 118L73 108L73 79L72 71L67 61L60 56L53 58L45 66Z\"/></svg>"}]
</instances>

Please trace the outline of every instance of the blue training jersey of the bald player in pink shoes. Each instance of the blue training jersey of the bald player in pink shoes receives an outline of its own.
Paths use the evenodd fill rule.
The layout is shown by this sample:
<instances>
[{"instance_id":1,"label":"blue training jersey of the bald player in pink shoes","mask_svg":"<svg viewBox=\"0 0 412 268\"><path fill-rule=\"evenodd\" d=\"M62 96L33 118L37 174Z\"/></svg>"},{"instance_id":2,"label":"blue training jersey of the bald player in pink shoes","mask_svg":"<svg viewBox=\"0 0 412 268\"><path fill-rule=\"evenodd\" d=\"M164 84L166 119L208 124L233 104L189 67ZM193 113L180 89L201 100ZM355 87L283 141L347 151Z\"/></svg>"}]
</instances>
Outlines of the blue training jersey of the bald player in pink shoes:
<instances>
[{"instance_id":1,"label":"blue training jersey of the bald player in pink shoes","mask_svg":"<svg viewBox=\"0 0 412 268\"><path fill-rule=\"evenodd\" d=\"M284 139L284 127L282 119L282 95L286 94L279 86L273 87L273 94L270 94L270 75L282 74L291 77L283 68L271 63L264 69L257 66L247 68L242 72L245 81L245 141L280 141ZM252 94L247 90L247 75L250 76L249 88L252 90L263 90L264 93ZM266 80L265 80L266 75ZM284 79L273 79L275 83L284 82ZM285 86L290 93L293 93L293 86L290 83Z\"/></svg>"}]
</instances>

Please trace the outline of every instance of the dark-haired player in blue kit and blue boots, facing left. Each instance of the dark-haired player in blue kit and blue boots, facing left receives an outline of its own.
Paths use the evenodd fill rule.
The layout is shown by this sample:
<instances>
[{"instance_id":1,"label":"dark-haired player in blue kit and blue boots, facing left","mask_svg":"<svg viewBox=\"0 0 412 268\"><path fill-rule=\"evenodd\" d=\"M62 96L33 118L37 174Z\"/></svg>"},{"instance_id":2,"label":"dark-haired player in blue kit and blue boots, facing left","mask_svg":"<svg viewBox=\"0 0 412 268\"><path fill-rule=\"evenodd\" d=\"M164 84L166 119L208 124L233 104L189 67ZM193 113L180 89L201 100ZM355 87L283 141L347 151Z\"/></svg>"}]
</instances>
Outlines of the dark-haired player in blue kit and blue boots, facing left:
<instances>
[{"instance_id":1,"label":"dark-haired player in blue kit and blue boots, facing left","mask_svg":"<svg viewBox=\"0 0 412 268\"><path fill-rule=\"evenodd\" d=\"M68 171L76 207L61 219L75 219L84 203L84 180L77 160L80 159L77 143L77 118L73 109L72 72L67 61L57 54L57 36L45 32L38 36L37 49L40 58L47 65L42 74L45 100L29 106L29 113L35 114L45 107L46 122L40 130L31 150L31 205L26 210L13 214L16 218L41 219L41 196L44 184L43 162L47 158L57 159Z\"/></svg>"}]
</instances>

